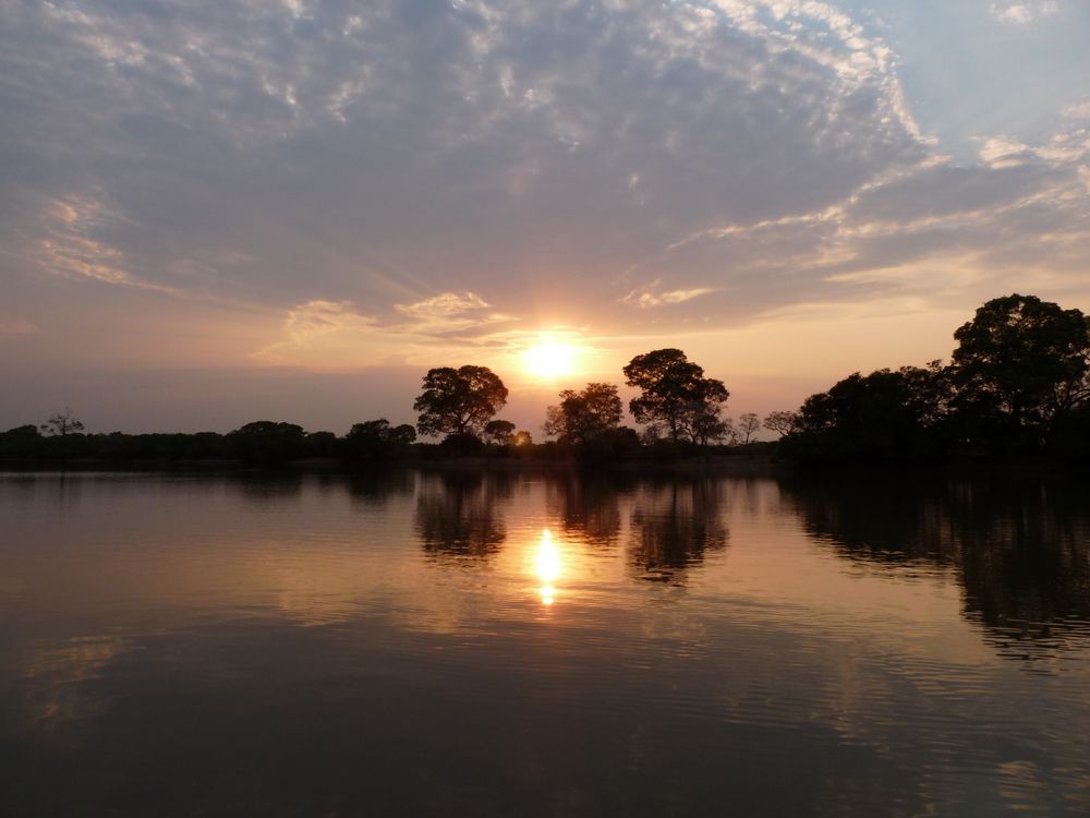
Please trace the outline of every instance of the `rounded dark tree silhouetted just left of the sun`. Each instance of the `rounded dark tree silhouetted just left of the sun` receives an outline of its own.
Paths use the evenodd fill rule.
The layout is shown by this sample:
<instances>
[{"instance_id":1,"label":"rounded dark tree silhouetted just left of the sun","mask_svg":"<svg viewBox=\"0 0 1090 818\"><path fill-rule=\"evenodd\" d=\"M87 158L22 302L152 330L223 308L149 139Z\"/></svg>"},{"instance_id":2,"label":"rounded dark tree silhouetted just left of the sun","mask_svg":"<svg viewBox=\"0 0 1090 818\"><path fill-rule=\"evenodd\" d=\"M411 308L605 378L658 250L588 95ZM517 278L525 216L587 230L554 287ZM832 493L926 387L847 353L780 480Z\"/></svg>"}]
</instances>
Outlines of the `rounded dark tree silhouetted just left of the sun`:
<instances>
[{"instance_id":1,"label":"rounded dark tree silhouetted just left of the sun","mask_svg":"<svg viewBox=\"0 0 1090 818\"><path fill-rule=\"evenodd\" d=\"M424 390L413 404L416 429L424 435L479 436L507 402L507 387L487 366L439 366L424 375Z\"/></svg>"}]
</instances>

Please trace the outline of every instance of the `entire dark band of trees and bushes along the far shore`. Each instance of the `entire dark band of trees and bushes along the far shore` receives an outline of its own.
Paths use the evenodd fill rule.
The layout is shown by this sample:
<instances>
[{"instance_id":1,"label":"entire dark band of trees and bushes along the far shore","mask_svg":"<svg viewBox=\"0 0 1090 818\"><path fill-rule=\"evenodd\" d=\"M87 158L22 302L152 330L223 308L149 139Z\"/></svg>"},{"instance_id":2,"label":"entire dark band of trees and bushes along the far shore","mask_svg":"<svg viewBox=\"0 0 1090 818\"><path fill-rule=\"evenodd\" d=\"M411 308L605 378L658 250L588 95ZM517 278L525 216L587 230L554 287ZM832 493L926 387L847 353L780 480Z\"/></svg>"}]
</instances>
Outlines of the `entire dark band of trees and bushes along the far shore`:
<instances>
[{"instance_id":1,"label":"entire dark band of trees and bushes along the far shore","mask_svg":"<svg viewBox=\"0 0 1090 818\"><path fill-rule=\"evenodd\" d=\"M797 411L724 417L730 393L680 349L635 356L626 384L641 431L621 425L614 384L565 389L546 410L544 435L495 416L508 390L487 366L428 370L413 404L416 426L385 418L343 437L293 423L256 421L229 434L86 434L71 409L41 426L0 433L0 458L16 461L237 461L305 459L347 465L404 458L510 457L615 462L772 448L801 464L950 458L1090 460L1090 318L1033 296L993 299L955 334L952 361L853 373ZM761 429L779 436L755 443ZM421 435L438 437L420 443Z\"/></svg>"}]
</instances>

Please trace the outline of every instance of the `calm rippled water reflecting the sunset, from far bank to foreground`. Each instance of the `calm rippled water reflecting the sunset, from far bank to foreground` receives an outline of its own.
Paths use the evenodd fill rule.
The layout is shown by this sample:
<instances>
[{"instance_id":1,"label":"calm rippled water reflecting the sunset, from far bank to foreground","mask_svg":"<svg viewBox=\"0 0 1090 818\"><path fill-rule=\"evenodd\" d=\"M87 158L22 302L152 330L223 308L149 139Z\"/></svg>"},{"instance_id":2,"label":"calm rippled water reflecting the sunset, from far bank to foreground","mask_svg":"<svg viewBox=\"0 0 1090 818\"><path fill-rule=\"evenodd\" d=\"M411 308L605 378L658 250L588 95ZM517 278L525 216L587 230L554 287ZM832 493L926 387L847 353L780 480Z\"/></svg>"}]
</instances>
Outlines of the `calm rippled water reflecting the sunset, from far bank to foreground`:
<instances>
[{"instance_id":1,"label":"calm rippled water reflecting the sunset, from far bank to foreground","mask_svg":"<svg viewBox=\"0 0 1090 818\"><path fill-rule=\"evenodd\" d=\"M1087 816L1088 497L0 477L0 815Z\"/></svg>"}]
</instances>

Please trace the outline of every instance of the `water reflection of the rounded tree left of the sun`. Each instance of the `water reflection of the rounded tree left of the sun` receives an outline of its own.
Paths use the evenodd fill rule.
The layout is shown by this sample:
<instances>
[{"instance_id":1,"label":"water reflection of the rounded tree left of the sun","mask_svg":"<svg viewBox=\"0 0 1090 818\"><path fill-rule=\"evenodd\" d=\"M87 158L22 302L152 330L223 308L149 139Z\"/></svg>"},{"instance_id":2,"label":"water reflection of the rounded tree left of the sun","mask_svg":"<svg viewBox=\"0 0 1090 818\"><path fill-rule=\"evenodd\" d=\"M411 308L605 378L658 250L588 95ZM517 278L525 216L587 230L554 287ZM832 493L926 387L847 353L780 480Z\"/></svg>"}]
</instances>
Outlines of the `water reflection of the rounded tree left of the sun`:
<instances>
[{"instance_id":1,"label":"water reflection of the rounded tree left of the sun","mask_svg":"<svg viewBox=\"0 0 1090 818\"><path fill-rule=\"evenodd\" d=\"M416 533L436 555L487 557L507 539L501 506L510 500L509 474L422 474L416 494Z\"/></svg>"}]
</instances>

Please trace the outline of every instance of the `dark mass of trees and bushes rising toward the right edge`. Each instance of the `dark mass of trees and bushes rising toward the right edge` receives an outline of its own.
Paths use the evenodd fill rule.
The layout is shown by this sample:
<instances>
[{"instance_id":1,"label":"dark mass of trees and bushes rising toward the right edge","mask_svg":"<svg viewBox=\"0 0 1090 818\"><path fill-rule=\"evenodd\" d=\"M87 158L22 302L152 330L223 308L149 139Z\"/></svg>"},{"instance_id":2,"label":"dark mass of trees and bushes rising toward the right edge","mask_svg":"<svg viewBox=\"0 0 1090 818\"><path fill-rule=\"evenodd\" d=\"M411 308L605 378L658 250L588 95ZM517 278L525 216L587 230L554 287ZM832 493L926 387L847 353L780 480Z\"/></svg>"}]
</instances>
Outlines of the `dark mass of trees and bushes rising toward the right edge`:
<instances>
[{"instance_id":1,"label":"dark mass of trees and bushes rising toward the right edge","mask_svg":"<svg viewBox=\"0 0 1090 818\"><path fill-rule=\"evenodd\" d=\"M950 363L855 373L785 416L803 462L1090 460L1090 318L1033 296L993 299Z\"/></svg>"}]
</instances>

